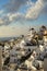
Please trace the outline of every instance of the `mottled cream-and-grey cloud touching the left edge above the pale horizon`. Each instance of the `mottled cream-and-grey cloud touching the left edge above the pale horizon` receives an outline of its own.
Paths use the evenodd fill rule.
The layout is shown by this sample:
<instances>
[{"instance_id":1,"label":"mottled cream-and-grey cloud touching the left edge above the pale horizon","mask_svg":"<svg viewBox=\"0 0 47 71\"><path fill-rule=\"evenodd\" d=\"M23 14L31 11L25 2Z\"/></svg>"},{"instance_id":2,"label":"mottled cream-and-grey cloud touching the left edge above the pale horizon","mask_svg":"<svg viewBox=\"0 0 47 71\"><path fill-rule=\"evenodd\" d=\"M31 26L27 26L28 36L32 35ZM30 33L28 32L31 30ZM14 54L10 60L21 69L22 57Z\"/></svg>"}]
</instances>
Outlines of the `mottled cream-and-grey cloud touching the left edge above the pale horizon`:
<instances>
[{"instance_id":1,"label":"mottled cream-and-grey cloud touching the left edge above the pale horizon","mask_svg":"<svg viewBox=\"0 0 47 71\"><path fill-rule=\"evenodd\" d=\"M12 22L17 22L21 20L24 20L24 14L22 13L8 13L7 15L4 15L3 17L0 17L0 26L2 25L9 25Z\"/></svg>"}]
</instances>

